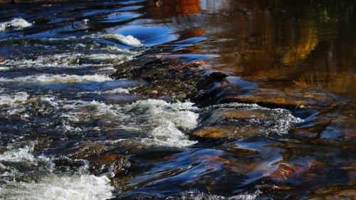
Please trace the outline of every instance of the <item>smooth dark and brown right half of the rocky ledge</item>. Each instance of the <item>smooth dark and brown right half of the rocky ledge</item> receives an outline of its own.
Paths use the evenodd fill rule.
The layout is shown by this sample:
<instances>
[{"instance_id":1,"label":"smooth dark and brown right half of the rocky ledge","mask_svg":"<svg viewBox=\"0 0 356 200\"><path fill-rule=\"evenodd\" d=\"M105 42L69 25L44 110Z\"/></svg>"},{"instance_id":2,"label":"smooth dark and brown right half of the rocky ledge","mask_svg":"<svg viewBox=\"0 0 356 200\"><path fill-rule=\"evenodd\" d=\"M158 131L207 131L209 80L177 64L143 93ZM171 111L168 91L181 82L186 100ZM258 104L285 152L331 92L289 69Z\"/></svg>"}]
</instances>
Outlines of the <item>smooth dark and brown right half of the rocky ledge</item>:
<instances>
[{"instance_id":1,"label":"smooth dark and brown right half of the rocky ledge","mask_svg":"<svg viewBox=\"0 0 356 200\"><path fill-rule=\"evenodd\" d=\"M217 77L217 78L209 78ZM209 80L209 81L208 81ZM203 87L202 85L205 85ZM259 88L257 83L243 80L227 73L211 73L199 85L199 93L192 100L208 106L219 103L256 103L264 107L286 108L288 110L320 109L333 105L332 95L313 88Z\"/></svg>"}]
</instances>

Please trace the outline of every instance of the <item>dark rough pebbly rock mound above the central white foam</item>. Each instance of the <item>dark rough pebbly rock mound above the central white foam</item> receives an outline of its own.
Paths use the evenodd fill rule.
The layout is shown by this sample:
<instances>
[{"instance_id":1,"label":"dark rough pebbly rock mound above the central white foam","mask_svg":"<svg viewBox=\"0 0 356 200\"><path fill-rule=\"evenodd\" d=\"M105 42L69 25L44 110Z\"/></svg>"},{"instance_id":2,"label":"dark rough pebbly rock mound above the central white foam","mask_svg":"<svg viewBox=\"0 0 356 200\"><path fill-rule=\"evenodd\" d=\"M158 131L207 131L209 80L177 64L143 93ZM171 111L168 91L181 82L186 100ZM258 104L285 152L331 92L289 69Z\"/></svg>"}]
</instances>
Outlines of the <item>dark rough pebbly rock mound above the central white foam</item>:
<instances>
[{"instance_id":1,"label":"dark rough pebbly rock mound above the central white foam","mask_svg":"<svg viewBox=\"0 0 356 200\"><path fill-rule=\"evenodd\" d=\"M132 93L147 98L183 101L197 93L202 77L195 74L201 63L181 63L170 58L142 56L115 68L112 78L143 80L147 84L132 89Z\"/></svg>"}]
</instances>

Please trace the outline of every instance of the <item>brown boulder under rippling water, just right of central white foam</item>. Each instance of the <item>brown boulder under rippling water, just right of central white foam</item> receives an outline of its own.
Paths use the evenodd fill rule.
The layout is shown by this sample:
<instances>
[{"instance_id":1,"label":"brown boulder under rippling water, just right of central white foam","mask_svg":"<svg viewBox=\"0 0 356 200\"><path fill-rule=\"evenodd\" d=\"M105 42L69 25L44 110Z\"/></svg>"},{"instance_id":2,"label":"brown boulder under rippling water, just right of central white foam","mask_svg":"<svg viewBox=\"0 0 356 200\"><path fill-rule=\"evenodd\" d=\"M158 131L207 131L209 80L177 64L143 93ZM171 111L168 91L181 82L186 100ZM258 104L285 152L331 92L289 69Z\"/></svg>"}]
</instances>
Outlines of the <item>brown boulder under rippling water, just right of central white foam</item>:
<instances>
[{"instance_id":1,"label":"brown boulder under rippling water, just right of central white foam","mask_svg":"<svg viewBox=\"0 0 356 200\"><path fill-rule=\"evenodd\" d=\"M302 122L285 109L270 109L256 104L229 103L206 107L196 137L244 137L248 135L286 134Z\"/></svg>"}]
</instances>

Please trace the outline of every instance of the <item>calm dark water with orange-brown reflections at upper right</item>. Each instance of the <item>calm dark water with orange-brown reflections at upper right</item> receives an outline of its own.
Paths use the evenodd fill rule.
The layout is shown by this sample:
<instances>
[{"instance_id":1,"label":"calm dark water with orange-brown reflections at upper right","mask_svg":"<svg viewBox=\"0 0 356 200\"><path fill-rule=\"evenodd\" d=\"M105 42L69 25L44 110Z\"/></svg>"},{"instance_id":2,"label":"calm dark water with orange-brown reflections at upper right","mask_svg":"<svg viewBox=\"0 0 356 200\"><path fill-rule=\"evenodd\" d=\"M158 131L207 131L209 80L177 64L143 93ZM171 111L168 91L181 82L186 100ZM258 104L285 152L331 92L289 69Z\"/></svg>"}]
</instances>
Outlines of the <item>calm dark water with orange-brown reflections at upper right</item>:
<instances>
[{"instance_id":1,"label":"calm dark water with orange-brown reflections at upper right","mask_svg":"<svg viewBox=\"0 0 356 200\"><path fill-rule=\"evenodd\" d=\"M194 50L219 52L220 69L262 84L305 83L343 95L355 91L350 1L165 3L149 9L152 17L178 23L186 34L204 34L209 41Z\"/></svg>"}]
</instances>

